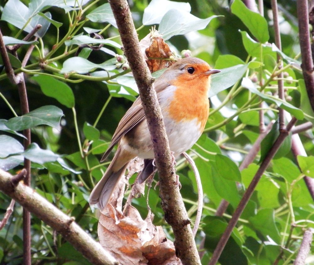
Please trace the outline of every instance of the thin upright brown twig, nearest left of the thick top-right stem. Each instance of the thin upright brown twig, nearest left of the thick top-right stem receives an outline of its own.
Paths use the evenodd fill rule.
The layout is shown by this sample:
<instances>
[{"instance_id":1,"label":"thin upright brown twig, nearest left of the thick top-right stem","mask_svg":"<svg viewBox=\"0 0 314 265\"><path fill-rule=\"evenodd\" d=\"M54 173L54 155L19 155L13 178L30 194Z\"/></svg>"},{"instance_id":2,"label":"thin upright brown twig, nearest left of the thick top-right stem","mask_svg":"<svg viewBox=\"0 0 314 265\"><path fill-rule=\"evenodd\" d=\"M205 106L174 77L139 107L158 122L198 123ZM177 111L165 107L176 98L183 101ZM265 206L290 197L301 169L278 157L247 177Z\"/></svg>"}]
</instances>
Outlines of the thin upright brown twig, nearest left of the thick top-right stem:
<instances>
[{"instance_id":1,"label":"thin upright brown twig, nearest left of the thick top-right stem","mask_svg":"<svg viewBox=\"0 0 314 265\"><path fill-rule=\"evenodd\" d=\"M273 26L274 26L274 33L275 33L275 44L277 48L281 51L281 38L280 38L280 29L279 29L279 20L278 20L278 6L277 6L277 0L271 0L272 10L273 10ZM277 53L277 64L278 64L278 70L283 68L283 61ZM283 73L280 72L278 75L278 96L279 99L285 100L284 98L284 80L282 79ZM283 130L285 127L284 124L284 109L279 108L279 130Z\"/></svg>"}]
</instances>

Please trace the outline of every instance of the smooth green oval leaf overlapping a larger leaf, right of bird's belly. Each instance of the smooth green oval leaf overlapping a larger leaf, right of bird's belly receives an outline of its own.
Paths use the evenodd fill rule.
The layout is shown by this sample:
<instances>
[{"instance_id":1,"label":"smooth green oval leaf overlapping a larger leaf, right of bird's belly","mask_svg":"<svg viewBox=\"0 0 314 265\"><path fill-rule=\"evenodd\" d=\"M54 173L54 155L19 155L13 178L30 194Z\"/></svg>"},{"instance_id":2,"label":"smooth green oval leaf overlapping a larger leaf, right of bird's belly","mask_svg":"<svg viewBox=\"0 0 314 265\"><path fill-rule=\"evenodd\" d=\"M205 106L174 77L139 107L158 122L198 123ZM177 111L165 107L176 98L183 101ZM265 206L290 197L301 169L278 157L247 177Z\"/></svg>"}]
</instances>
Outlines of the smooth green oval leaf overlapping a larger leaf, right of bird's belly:
<instances>
[{"instance_id":1,"label":"smooth green oval leaf overlapping a larger leaf, right of bird's belly","mask_svg":"<svg viewBox=\"0 0 314 265\"><path fill-rule=\"evenodd\" d=\"M235 162L222 154L216 154L215 160L217 173L220 177L227 180L241 182L241 173Z\"/></svg>"}]
</instances>

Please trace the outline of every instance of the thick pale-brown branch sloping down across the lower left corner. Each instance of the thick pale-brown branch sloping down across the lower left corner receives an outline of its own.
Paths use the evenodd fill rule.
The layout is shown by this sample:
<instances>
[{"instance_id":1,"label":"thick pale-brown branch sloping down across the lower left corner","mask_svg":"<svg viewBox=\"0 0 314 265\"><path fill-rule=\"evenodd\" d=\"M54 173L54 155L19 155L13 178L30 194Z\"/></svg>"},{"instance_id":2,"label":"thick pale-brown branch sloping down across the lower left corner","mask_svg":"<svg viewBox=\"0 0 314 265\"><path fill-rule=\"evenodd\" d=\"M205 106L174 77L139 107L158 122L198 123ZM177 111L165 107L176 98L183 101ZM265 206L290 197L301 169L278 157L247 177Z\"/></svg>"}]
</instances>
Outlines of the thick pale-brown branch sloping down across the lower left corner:
<instances>
[{"instance_id":1,"label":"thick pale-brown branch sloping down across the lower left corner","mask_svg":"<svg viewBox=\"0 0 314 265\"><path fill-rule=\"evenodd\" d=\"M115 264L118 262L95 242L82 228L62 211L41 197L30 187L19 183L12 187L12 176L0 169L0 191L7 194L25 209L50 225L80 251L92 264Z\"/></svg>"}]
</instances>

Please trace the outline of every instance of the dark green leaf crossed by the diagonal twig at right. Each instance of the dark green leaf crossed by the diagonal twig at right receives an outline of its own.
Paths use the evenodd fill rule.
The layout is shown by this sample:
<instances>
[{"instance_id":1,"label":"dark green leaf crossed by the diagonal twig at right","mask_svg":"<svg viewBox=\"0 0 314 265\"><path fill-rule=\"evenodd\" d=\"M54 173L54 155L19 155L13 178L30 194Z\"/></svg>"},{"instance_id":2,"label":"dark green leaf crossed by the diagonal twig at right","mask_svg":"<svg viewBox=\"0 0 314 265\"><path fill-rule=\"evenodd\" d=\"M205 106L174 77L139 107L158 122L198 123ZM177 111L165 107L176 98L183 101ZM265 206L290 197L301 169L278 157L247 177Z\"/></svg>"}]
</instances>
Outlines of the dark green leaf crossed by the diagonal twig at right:
<instances>
[{"instance_id":1,"label":"dark green leaf crossed by the diagonal twig at right","mask_svg":"<svg viewBox=\"0 0 314 265\"><path fill-rule=\"evenodd\" d=\"M278 121L275 122L270 132L267 134L267 136L263 139L261 143L261 159L259 160L259 163L261 163L270 149L273 147L273 143L276 141L276 139L279 136L279 123ZM283 143L279 147L277 153L274 156L274 159L278 159L280 157L283 157L284 155L288 154L291 149L291 133L284 139Z\"/></svg>"}]
</instances>

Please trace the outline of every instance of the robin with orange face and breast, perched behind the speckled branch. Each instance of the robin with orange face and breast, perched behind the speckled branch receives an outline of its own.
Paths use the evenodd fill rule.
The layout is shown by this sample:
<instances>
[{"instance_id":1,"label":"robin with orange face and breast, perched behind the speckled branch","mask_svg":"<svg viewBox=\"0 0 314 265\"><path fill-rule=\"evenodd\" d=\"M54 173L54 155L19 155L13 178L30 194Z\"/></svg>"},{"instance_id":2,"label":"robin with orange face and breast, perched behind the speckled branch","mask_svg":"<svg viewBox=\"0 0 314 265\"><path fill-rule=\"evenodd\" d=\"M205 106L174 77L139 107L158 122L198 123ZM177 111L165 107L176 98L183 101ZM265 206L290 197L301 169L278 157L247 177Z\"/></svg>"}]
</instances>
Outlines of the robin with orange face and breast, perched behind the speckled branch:
<instances>
[{"instance_id":1,"label":"robin with orange face and breast, perched behind the speckled branch","mask_svg":"<svg viewBox=\"0 0 314 265\"><path fill-rule=\"evenodd\" d=\"M203 133L209 115L211 75L219 72L202 59L187 57L175 62L154 81L174 157L190 149ZM138 175L139 183L156 171L153 143L140 97L122 117L100 162L108 157L116 144L117 150L110 165L89 196L89 203L96 204L100 210L108 204L133 158L144 159L143 170Z\"/></svg>"}]
</instances>

